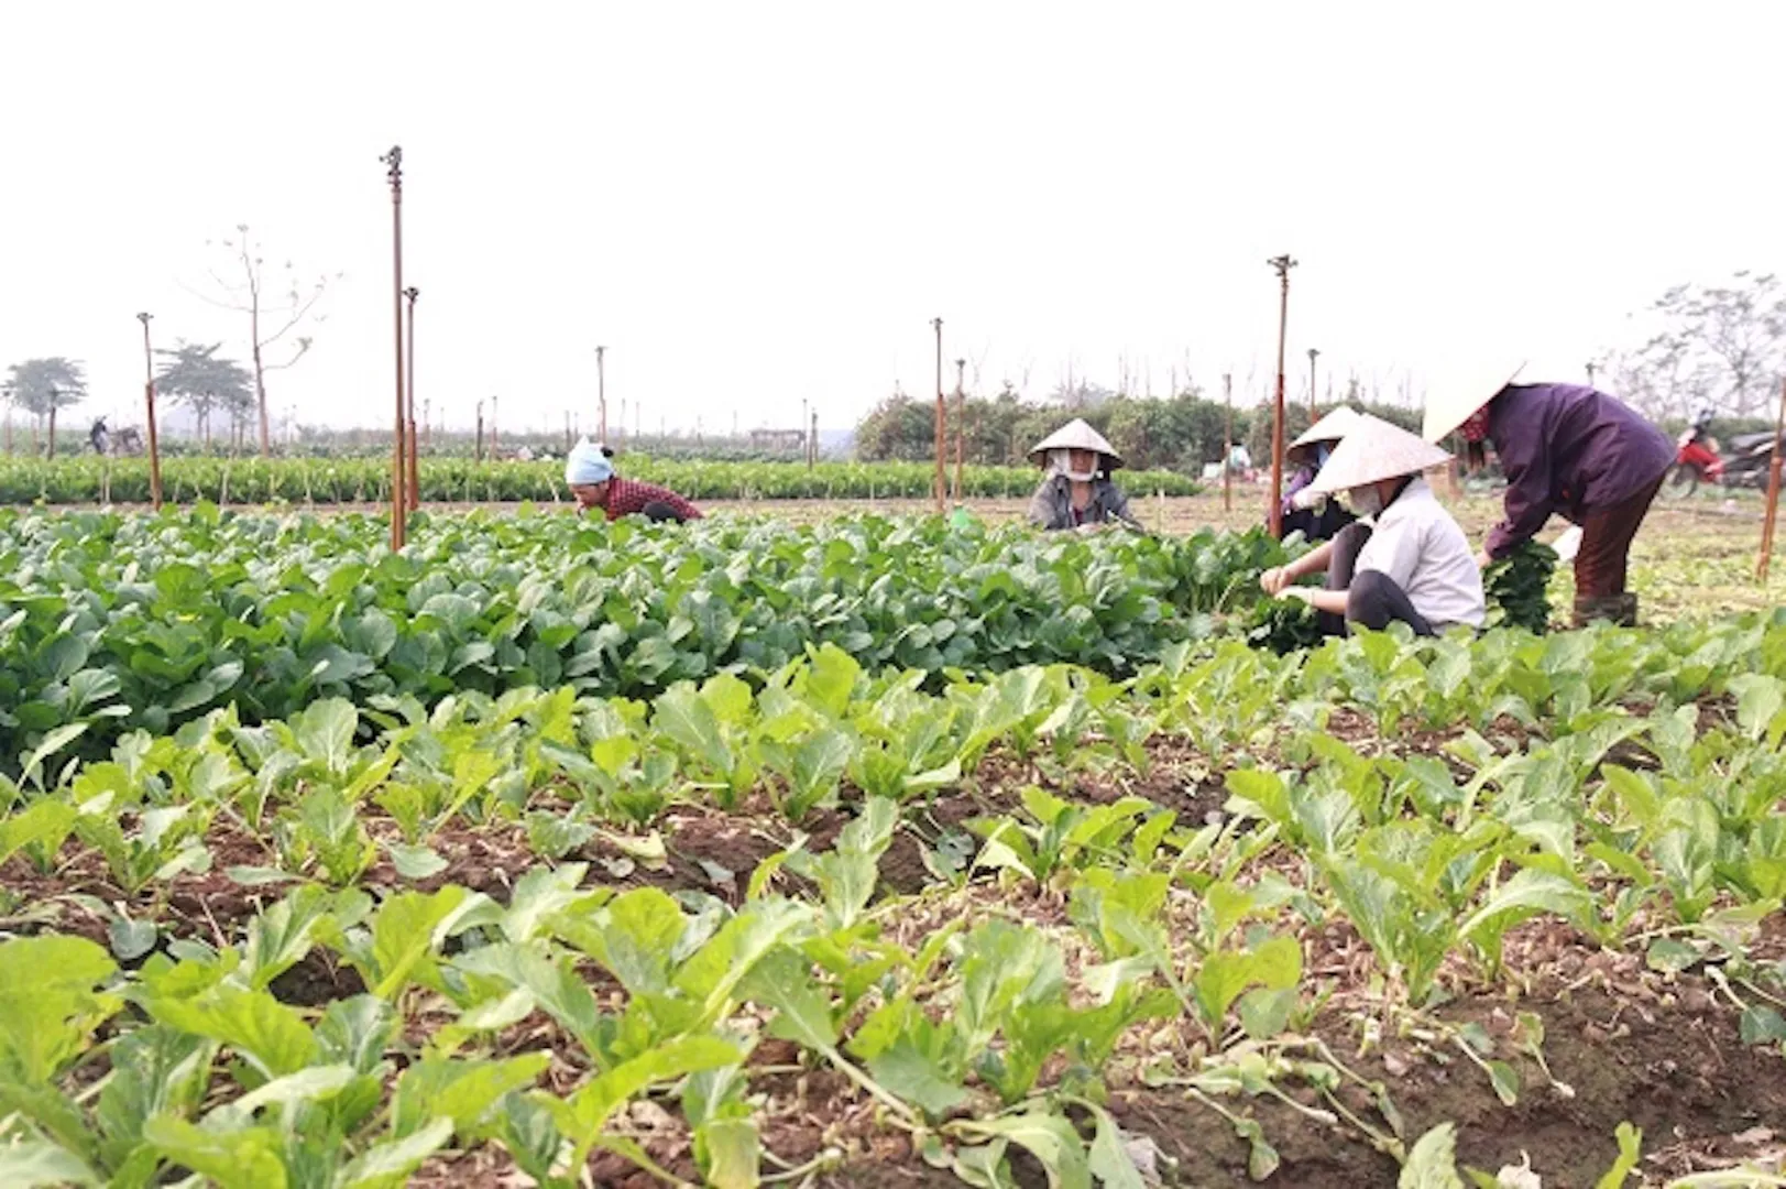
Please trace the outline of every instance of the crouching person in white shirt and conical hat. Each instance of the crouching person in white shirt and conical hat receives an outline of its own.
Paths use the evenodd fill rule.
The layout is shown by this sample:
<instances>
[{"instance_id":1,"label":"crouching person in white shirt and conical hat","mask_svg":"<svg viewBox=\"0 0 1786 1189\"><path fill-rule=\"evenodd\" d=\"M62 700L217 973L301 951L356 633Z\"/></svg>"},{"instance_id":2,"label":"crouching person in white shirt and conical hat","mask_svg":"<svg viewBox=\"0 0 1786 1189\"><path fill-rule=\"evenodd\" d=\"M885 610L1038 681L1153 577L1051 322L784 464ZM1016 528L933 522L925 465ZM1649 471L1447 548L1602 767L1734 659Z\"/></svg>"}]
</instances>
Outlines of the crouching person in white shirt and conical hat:
<instances>
[{"instance_id":1,"label":"crouching person in white shirt and conical hat","mask_svg":"<svg viewBox=\"0 0 1786 1189\"><path fill-rule=\"evenodd\" d=\"M1322 629L1341 635L1350 624L1382 631L1400 620L1416 637L1447 628L1482 626L1482 570L1470 558L1470 540L1420 477L1450 454L1415 434L1359 415L1309 485L1323 495L1345 492L1361 517L1331 542L1259 578L1279 599L1302 599L1320 611ZM1295 586L1307 574L1327 574L1327 588Z\"/></svg>"}]
</instances>

